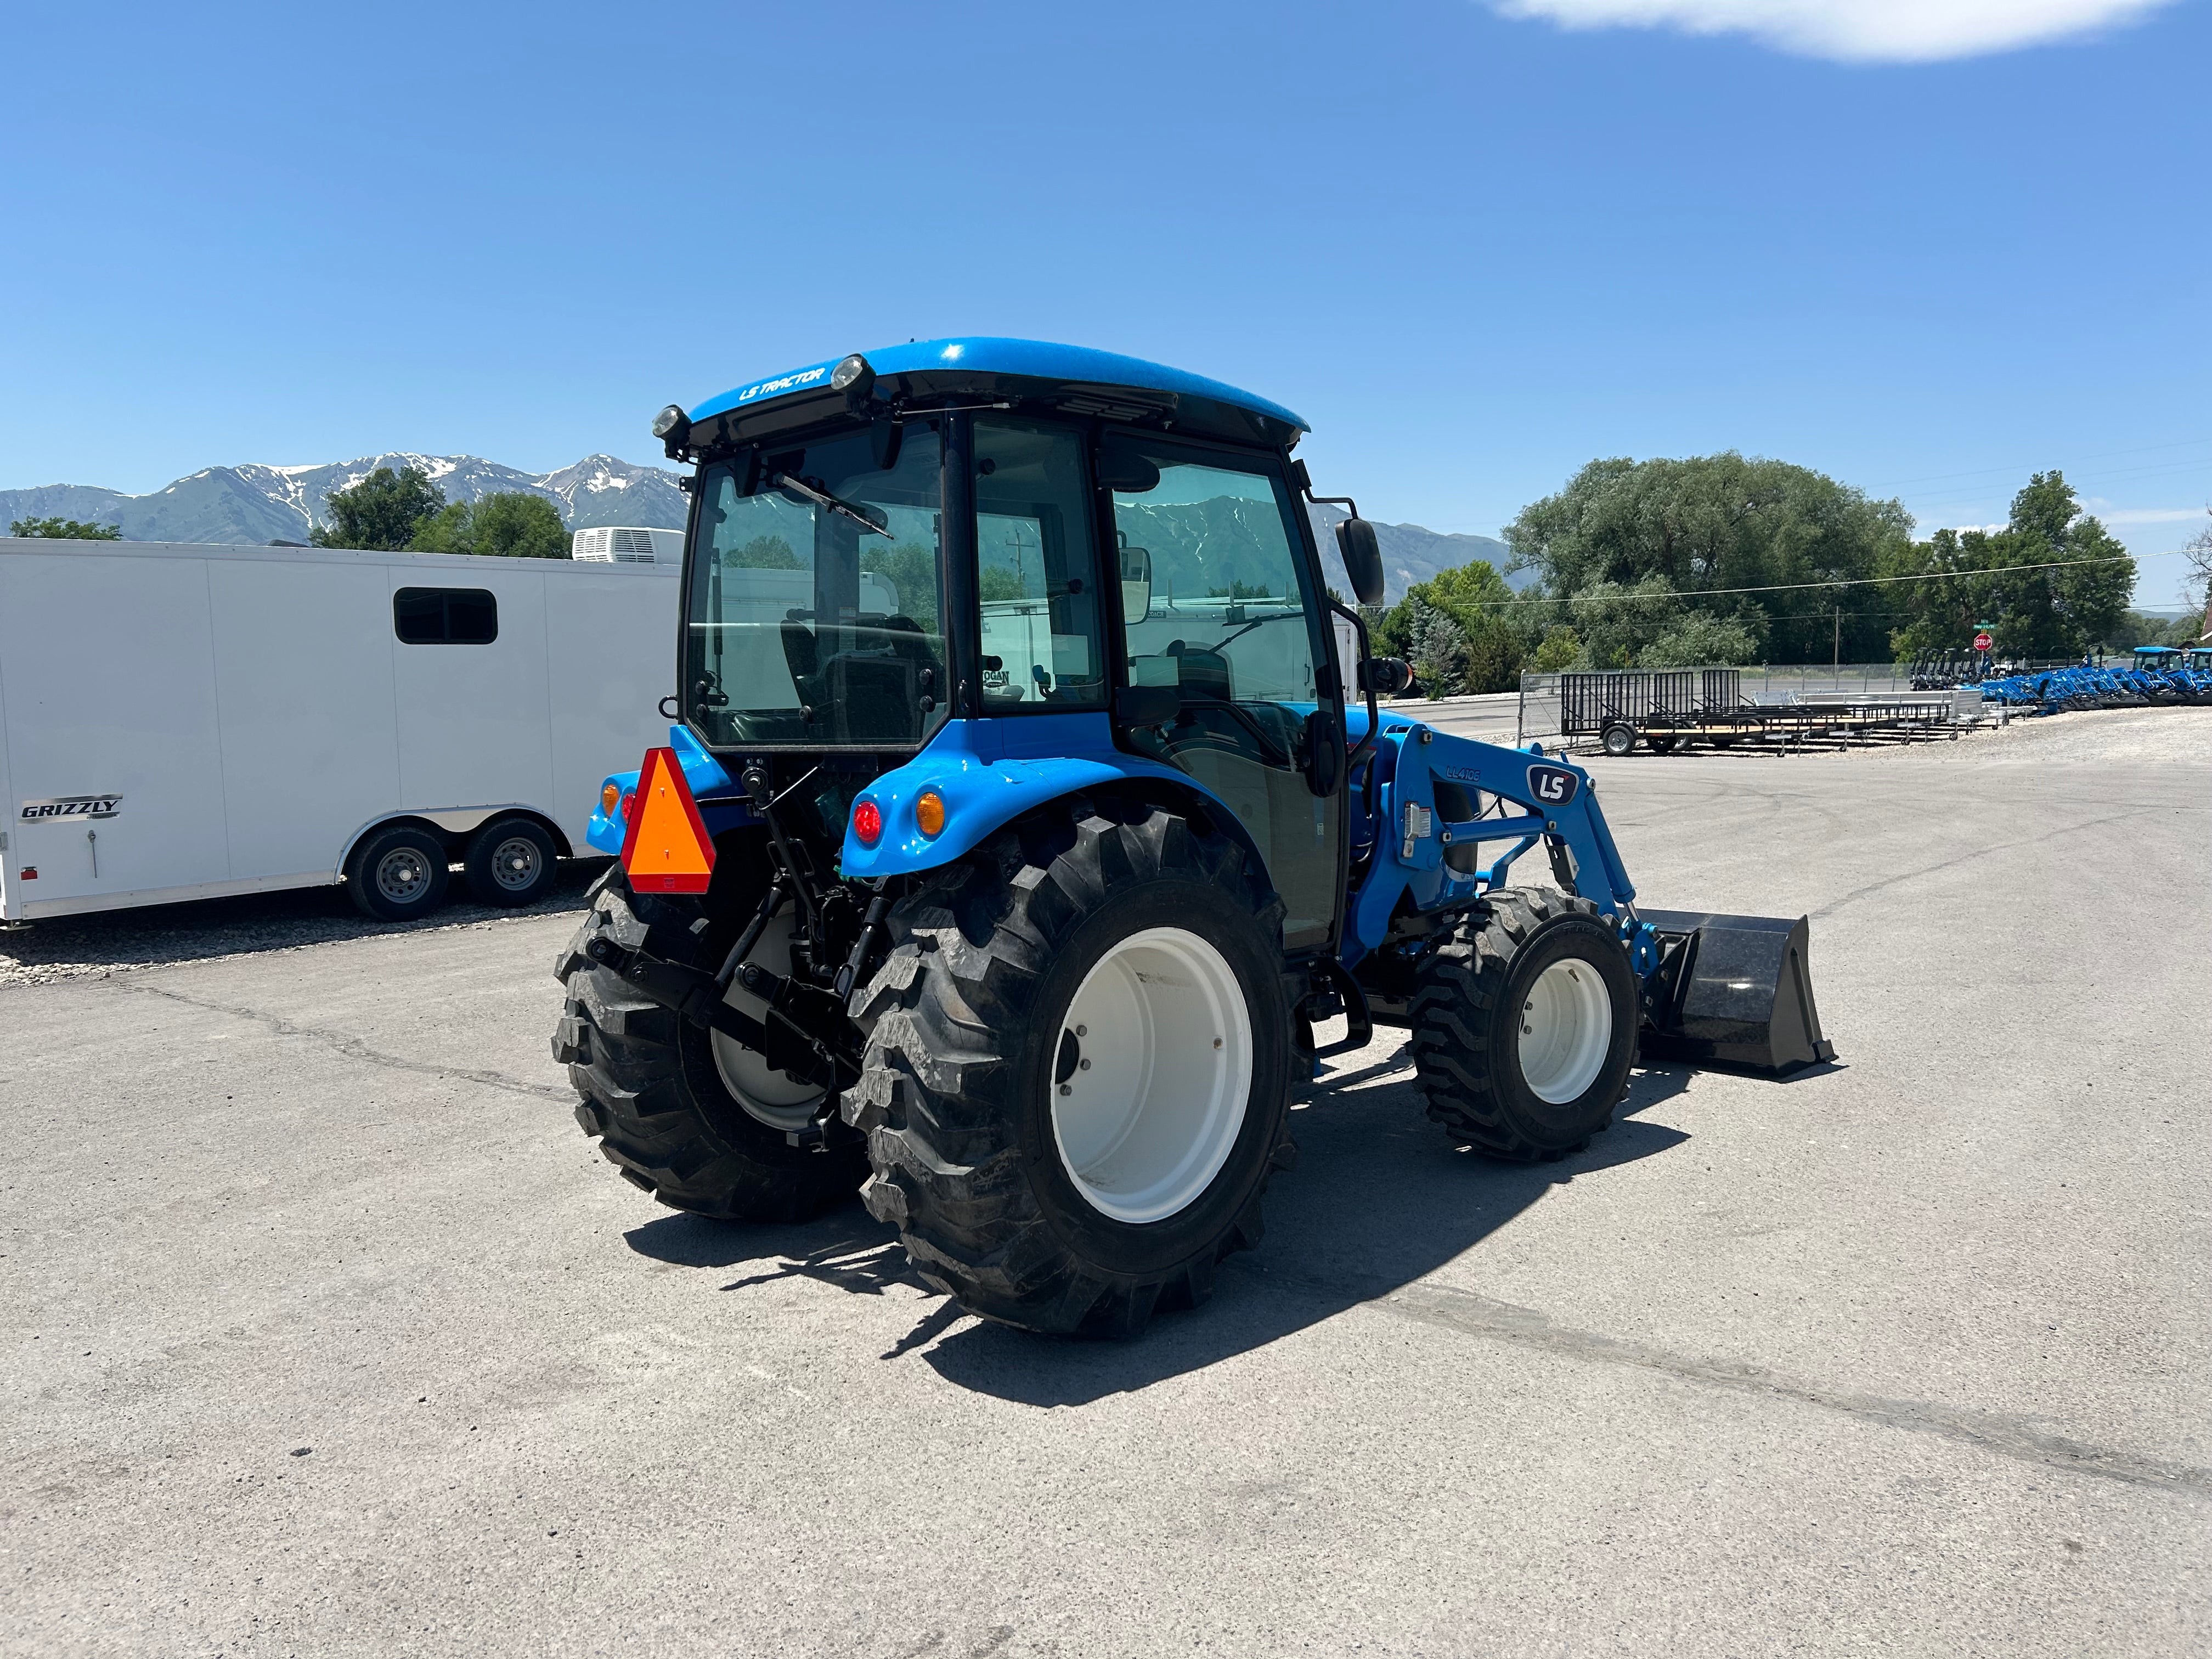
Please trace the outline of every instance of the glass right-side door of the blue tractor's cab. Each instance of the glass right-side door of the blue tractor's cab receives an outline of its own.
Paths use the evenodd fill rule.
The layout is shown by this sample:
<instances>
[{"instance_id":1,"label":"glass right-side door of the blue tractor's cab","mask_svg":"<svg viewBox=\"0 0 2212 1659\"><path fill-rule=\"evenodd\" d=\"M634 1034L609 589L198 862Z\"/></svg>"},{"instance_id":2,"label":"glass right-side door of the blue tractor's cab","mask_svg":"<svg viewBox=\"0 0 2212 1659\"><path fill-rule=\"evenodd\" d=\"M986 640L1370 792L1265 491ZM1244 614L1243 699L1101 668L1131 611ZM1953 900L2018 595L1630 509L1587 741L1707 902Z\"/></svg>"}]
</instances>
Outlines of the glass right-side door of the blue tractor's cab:
<instances>
[{"instance_id":1,"label":"glass right-side door of the blue tractor's cab","mask_svg":"<svg viewBox=\"0 0 2212 1659\"><path fill-rule=\"evenodd\" d=\"M1287 907L1283 945L1327 947L1345 714L1290 487L1267 460L1139 434L1102 440L1099 482L1124 573L1150 568L1144 617L1124 613L1119 684L1177 692L1172 719L1119 741L1228 803Z\"/></svg>"}]
</instances>

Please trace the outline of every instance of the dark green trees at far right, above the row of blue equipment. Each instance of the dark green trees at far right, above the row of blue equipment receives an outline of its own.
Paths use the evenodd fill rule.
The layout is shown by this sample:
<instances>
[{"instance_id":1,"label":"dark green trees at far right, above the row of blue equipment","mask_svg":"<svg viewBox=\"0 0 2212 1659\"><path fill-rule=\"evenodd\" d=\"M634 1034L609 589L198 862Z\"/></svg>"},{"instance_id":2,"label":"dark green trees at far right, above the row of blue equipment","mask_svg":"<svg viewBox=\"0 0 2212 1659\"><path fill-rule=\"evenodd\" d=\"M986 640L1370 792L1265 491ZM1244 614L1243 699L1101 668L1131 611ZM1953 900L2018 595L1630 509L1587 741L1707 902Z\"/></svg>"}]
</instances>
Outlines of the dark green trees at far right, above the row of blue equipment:
<instances>
[{"instance_id":1,"label":"dark green trees at far right, above the row of blue equipment","mask_svg":"<svg viewBox=\"0 0 2212 1659\"><path fill-rule=\"evenodd\" d=\"M1898 661L1964 650L1982 624L2000 657L2079 657L2121 626L2135 593L2135 560L2057 471L2028 478L2002 531L1936 531L1889 573L1933 577L1891 588L1887 608L1907 617L1889 635Z\"/></svg>"}]
</instances>

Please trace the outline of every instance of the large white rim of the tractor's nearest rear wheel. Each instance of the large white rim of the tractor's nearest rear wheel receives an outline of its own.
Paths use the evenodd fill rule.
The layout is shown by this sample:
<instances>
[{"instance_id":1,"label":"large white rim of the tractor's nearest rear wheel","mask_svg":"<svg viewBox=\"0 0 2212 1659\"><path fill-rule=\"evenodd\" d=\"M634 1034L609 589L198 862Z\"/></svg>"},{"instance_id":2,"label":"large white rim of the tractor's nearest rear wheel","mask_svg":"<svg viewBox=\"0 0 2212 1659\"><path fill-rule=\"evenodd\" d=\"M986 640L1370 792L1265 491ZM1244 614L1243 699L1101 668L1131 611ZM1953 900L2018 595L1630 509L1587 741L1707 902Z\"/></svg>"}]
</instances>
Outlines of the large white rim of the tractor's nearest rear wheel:
<instances>
[{"instance_id":1,"label":"large white rim of the tractor's nearest rear wheel","mask_svg":"<svg viewBox=\"0 0 2212 1659\"><path fill-rule=\"evenodd\" d=\"M1252 1093L1237 971L1181 927L1130 933L1075 989L1044 1086L1060 1164L1093 1210L1137 1225L1188 1210Z\"/></svg>"}]
</instances>

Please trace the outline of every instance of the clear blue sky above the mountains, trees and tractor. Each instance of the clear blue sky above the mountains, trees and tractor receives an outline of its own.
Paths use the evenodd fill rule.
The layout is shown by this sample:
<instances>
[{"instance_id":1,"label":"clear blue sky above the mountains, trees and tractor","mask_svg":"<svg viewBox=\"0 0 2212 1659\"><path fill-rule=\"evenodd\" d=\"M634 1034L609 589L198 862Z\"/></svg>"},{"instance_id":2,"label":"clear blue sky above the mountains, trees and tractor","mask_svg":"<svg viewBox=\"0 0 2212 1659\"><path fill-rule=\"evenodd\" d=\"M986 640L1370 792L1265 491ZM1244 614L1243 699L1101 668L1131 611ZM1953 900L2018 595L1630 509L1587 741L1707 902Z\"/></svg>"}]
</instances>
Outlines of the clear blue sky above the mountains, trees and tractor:
<instances>
[{"instance_id":1,"label":"clear blue sky above the mountains, trees and tractor","mask_svg":"<svg viewBox=\"0 0 2212 1659\"><path fill-rule=\"evenodd\" d=\"M1922 529L2062 467L2170 604L2212 500L2205 0L0 31L0 489L655 460L661 403L989 332L1279 398L1329 493L1449 531L1593 456L1778 456Z\"/></svg>"}]
</instances>

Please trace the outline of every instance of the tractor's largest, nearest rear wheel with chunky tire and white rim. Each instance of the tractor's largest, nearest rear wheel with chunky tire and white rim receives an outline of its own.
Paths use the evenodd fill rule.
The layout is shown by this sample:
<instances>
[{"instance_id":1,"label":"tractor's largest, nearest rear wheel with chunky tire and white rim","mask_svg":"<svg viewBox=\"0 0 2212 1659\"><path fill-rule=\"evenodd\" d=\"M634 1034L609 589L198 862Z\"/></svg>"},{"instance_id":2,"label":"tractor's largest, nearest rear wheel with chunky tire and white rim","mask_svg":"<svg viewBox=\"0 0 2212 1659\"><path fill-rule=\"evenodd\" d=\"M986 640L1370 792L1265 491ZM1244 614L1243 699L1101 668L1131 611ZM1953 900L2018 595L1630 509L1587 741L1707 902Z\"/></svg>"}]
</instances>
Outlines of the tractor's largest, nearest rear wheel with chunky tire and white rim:
<instances>
[{"instance_id":1,"label":"tractor's largest, nearest rear wheel with chunky tire and white rim","mask_svg":"<svg viewBox=\"0 0 2212 1659\"><path fill-rule=\"evenodd\" d=\"M969 1312L1037 1332L1203 1303L1292 1155L1283 905L1228 836L1135 812L945 872L854 998L869 1212Z\"/></svg>"}]
</instances>

